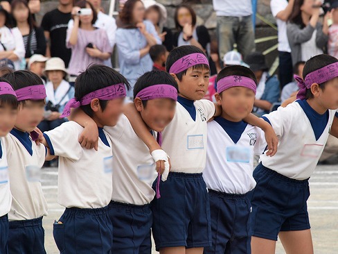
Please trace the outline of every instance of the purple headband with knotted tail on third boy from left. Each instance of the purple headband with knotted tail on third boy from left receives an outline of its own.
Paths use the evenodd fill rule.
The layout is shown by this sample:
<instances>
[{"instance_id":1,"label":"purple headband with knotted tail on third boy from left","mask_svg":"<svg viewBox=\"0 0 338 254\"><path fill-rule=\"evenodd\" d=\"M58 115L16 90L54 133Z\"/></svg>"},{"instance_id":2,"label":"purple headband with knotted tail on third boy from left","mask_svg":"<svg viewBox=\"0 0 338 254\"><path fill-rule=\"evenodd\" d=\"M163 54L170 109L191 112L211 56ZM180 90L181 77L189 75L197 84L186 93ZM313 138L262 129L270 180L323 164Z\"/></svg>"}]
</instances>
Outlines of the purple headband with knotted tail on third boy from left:
<instances>
[{"instance_id":1,"label":"purple headband with knotted tail on third boy from left","mask_svg":"<svg viewBox=\"0 0 338 254\"><path fill-rule=\"evenodd\" d=\"M96 90L94 92L90 92L89 94L84 95L80 100L73 98L68 103L66 103L64 111L62 112L60 118L68 117L69 115L71 115L71 108L80 108L80 105L89 105L92 99L108 101L125 97L125 95L125 84L119 83Z\"/></svg>"}]
</instances>

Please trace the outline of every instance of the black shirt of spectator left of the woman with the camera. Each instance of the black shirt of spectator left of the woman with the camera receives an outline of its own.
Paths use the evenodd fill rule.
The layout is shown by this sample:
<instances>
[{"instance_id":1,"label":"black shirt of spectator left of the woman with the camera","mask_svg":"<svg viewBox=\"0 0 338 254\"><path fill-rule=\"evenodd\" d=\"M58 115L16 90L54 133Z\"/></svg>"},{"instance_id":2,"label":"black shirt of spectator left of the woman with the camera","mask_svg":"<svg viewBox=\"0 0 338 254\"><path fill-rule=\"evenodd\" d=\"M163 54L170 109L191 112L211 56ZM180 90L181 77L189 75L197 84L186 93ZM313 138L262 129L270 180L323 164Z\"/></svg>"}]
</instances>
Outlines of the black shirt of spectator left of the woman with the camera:
<instances>
[{"instance_id":1,"label":"black shirt of spectator left of the woman with the camera","mask_svg":"<svg viewBox=\"0 0 338 254\"><path fill-rule=\"evenodd\" d=\"M71 49L66 48L66 32L69 20L71 20L71 12L64 13L55 9L47 12L41 23L44 31L49 32L51 56L64 60L66 67L71 60Z\"/></svg>"}]
</instances>

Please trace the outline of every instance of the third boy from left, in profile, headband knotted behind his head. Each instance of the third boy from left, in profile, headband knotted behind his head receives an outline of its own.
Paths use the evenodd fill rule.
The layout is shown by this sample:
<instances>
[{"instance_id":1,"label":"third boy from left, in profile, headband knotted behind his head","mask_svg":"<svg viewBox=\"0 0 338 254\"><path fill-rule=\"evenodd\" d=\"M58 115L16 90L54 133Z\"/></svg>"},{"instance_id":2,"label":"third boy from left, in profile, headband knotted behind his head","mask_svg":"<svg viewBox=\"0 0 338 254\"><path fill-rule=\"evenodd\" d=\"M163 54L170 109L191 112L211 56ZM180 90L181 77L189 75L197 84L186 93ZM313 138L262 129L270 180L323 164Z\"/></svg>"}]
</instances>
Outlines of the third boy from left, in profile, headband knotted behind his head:
<instances>
[{"instance_id":1,"label":"third boy from left, in profile, headband knotted behind his head","mask_svg":"<svg viewBox=\"0 0 338 254\"><path fill-rule=\"evenodd\" d=\"M81 108L94 120L99 133L98 150L82 149L83 131L75 121L44 133L43 144L59 156L58 203L66 210L55 221L53 235L61 253L111 253L113 227L108 217L112 199L112 142L103 126L114 126L122 113L126 88L130 85L117 71L91 65L75 81L75 98L66 104Z\"/></svg>"}]
</instances>

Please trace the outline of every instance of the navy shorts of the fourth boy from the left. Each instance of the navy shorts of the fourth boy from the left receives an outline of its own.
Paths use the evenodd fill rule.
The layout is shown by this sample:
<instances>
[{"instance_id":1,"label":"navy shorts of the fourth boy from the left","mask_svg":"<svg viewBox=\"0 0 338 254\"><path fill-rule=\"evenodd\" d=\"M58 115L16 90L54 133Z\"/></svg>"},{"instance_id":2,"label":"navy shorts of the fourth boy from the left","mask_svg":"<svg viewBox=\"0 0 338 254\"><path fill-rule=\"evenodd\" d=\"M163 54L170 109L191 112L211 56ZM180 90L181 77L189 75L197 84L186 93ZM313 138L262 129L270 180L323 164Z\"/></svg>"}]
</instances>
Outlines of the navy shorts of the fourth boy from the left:
<instances>
[{"instance_id":1,"label":"navy shorts of the fourth boy from the left","mask_svg":"<svg viewBox=\"0 0 338 254\"><path fill-rule=\"evenodd\" d=\"M150 205L109 203L109 218L112 221L112 253L152 253L152 210Z\"/></svg>"}]
</instances>

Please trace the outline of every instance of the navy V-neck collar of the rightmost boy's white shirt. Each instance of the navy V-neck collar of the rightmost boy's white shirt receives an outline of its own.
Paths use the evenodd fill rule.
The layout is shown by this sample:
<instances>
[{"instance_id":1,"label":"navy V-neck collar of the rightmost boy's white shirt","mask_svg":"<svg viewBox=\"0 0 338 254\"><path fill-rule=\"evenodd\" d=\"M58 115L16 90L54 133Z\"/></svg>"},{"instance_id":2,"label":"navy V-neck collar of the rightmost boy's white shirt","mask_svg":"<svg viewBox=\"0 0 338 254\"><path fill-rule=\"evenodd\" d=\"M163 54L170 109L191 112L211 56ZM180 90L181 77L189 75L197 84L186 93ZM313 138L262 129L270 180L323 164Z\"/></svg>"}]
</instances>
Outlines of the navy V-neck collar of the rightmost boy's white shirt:
<instances>
[{"instance_id":1,"label":"navy V-neck collar of the rightmost boy's white shirt","mask_svg":"<svg viewBox=\"0 0 338 254\"><path fill-rule=\"evenodd\" d=\"M328 124L328 118L329 118L329 112L326 110L326 112L323 115L320 115L316 110L311 108L308 101L306 100L297 100L296 102L301 105L301 108L305 112L306 117L308 117L310 124L312 126L312 130L314 132L314 137L316 137L316 140L321 137L323 134L323 131L326 128L326 125Z\"/></svg>"}]
</instances>

